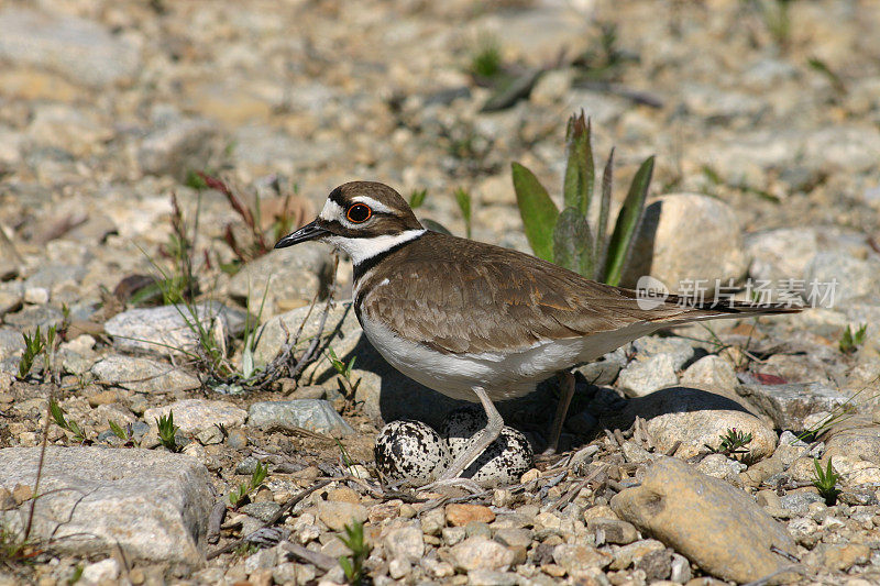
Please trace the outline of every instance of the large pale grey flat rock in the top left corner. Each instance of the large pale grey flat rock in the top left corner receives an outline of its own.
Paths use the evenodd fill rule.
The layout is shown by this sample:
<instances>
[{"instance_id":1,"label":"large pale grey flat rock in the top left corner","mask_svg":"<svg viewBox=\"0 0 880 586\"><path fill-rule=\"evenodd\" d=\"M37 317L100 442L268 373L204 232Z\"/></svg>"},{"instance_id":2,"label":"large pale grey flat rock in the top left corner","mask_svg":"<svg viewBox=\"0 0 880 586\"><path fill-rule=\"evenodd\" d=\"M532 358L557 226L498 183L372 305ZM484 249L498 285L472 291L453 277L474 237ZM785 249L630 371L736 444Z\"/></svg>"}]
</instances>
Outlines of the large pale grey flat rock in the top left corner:
<instances>
[{"instance_id":1,"label":"large pale grey flat rock in the top left corner","mask_svg":"<svg viewBox=\"0 0 880 586\"><path fill-rule=\"evenodd\" d=\"M0 12L0 58L95 87L131 79L141 60L134 44L95 22L23 8Z\"/></svg>"}]
</instances>

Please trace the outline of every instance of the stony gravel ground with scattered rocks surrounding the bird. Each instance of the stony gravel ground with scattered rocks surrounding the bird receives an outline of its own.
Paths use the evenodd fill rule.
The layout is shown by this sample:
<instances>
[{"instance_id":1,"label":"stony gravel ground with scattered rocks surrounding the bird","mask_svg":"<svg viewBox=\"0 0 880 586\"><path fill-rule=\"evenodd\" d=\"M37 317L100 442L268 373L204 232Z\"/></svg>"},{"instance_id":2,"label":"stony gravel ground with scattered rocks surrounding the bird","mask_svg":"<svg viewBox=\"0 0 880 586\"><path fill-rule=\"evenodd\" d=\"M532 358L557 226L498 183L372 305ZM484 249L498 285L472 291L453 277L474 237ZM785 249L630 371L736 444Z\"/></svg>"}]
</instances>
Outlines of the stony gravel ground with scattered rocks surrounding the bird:
<instances>
[{"instance_id":1,"label":"stony gravel ground with scattered rocks surrounding the bird","mask_svg":"<svg viewBox=\"0 0 880 586\"><path fill-rule=\"evenodd\" d=\"M3 2L0 585L344 583L352 523L374 584L880 583L879 29L856 0ZM558 197L581 109L616 206L657 155L630 280L834 298L582 366L563 452L510 483L382 484L383 425L460 405L361 338L346 259L261 239L374 179L464 234L461 187L474 239L527 251L510 162ZM499 406L536 453L556 394Z\"/></svg>"}]
</instances>

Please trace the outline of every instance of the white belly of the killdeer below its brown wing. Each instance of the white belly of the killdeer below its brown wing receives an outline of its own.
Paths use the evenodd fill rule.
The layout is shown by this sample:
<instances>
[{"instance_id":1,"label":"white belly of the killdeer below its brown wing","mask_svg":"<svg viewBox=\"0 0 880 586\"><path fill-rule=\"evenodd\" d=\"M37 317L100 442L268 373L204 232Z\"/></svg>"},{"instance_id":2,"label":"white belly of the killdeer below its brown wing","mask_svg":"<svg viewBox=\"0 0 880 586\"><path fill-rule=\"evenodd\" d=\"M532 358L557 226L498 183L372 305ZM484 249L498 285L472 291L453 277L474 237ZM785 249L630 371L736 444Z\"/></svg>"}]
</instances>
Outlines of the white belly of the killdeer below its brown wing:
<instances>
[{"instance_id":1,"label":"white belly of the killdeer below its brown wing","mask_svg":"<svg viewBox=\"0 0 880 586\"><path fill-rule=\"evenodd\" d=\"M366 338L409 378L453 399L476 401L474 386L493 401L521 397L559 371L590 362L656 329L639 323L585 338L548 340L515 352L474 355L443 354L404 340L384 325L361 316Z\"/></svg>"}]
</instances>

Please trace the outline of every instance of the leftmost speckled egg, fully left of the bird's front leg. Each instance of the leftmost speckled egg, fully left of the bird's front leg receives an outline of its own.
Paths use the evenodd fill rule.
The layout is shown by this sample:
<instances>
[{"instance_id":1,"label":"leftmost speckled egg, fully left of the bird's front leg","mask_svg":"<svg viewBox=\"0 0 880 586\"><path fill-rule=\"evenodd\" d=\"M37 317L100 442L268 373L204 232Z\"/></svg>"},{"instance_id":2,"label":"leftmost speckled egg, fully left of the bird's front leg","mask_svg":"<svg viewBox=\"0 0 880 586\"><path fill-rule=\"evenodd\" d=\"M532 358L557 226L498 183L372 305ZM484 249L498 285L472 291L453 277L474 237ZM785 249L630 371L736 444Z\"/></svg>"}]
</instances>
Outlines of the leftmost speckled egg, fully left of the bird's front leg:
<instances>
[{"instance_id":1,"label":"leftmost speckled egg, fully left of the bird's front leg","mask_svg":"<svg viewBox=\"0 0 880 586\"><path fill-rule=\"evenodd\" d=\"M447 442L421 421L392 421L376 436L373 453L382 478L402 486L432 483L451 462Z\"/></svg>"}]
</instances>

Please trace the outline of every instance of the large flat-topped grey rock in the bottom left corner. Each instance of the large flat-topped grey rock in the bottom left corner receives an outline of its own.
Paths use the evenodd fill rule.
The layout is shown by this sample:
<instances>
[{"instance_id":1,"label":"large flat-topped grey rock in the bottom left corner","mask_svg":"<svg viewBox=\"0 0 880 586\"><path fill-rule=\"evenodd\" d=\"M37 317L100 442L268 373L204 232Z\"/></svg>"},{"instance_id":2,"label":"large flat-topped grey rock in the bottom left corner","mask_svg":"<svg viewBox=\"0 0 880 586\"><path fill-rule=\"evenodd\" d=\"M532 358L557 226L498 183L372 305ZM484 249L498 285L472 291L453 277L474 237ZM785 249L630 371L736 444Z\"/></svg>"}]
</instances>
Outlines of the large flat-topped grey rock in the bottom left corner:
<instances>
[{"instance_id":1,"label":"large flat-topped grey rock in the bottom left corner","mask_svg":"<svg viewBox=\"0 0 880 586\"><path fill-rule=\"evenodd\" d=\"M0 486L33 487L37 447L0 450ZM148 450L46 450L34 537L54 551L198 565L215 498L207 468L183 454ZM25 502L22 510L29 509ZM20 523L22 510L2 513Z\"/></svg>"}]
</instances>

